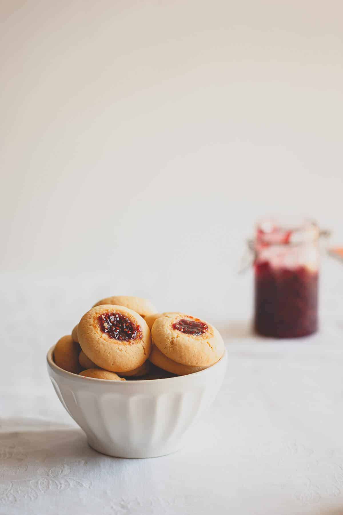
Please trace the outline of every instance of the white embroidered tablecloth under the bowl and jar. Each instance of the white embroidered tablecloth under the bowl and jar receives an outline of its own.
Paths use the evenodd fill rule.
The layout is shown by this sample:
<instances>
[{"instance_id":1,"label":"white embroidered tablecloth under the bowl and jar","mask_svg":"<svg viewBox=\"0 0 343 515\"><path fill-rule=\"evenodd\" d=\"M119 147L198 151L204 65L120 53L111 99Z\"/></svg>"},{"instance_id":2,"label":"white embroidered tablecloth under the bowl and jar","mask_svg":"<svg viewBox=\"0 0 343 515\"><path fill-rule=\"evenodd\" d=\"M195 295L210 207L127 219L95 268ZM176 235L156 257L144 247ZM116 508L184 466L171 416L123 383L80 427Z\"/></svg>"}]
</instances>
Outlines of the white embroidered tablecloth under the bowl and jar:
<instances>
[{"instance_id":1,"label":"white embroidered tablecloth under the bowl and jar","mask_svg":"<svg viewBox=\"0 0 343 515\"><path fill-rule=\"evenodd\" d=\"M46 350L65 332L62 315L49 323L59 289L23 288L1 305L1 515L343 513L340 288L309 338L258 338L248 314L219 320L229 364L217 399L187 448L140 460L88 447L45 370Z\"/></svg>"}]
</instances>

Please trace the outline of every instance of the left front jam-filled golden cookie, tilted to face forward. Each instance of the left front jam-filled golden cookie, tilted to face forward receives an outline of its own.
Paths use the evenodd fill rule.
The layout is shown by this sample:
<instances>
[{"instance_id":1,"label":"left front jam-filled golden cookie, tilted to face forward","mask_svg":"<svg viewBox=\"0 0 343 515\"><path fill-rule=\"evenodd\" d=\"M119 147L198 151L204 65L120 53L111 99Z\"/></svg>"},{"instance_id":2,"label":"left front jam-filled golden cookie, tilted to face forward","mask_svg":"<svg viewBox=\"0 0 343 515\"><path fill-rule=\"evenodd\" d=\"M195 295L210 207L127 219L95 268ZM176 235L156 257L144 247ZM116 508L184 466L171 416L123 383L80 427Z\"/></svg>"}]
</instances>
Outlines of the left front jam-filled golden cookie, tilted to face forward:
<instances>
[{"instance_id":1,"label":"left front jam-filled golden cookie, tilted to face forward","mask_svg":"<svg viewBox=\"0 0 343 515\"><path fill-rule=\"evenodd\" d=\"M79 322L78 338L83 352L98 367L113 372L142 366L151 351L146 321L124 306L92 307Z\"/></svg>"}]
</instances>

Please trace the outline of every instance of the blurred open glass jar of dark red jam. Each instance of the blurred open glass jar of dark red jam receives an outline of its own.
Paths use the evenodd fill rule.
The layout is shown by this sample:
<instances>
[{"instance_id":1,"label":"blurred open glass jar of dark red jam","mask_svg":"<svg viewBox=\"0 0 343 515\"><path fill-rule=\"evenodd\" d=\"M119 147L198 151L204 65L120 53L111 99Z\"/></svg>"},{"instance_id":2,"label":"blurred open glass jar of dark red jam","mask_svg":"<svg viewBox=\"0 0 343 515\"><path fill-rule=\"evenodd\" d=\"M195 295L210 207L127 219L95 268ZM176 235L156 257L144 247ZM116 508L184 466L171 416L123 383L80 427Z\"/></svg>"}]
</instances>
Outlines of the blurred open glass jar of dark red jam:
<instances>
[{"instance_id":1,"label":"blurred open glass jar of dark red jam","mask_svg":"<svg viewBox=\"0 0 343 515\"><path fill-rule=\"evenodd\" d=\"M318 329L319 229L264 220L256 228L254 327L264 336L297 338Z\"/></svg>"}]
</instances>

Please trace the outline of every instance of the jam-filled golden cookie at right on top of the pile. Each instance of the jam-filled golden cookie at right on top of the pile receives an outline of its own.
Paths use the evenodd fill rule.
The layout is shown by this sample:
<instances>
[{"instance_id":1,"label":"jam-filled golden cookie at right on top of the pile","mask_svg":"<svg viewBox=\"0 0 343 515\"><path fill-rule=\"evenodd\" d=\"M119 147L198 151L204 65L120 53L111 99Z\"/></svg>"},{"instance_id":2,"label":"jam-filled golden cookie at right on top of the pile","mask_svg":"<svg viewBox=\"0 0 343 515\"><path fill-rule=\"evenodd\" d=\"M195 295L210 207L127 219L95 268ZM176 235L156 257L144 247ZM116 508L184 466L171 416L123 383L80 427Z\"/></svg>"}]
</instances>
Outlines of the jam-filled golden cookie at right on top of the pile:
<instances>
[{"instance_id":1,"label":"jam-filled golden cookie at right on top of the pile","mask_svg":"<svg viewBox=\"0 0 343 515\"><path fill-rule=\"evenodd\" d=\"M213 325L189 315L157 318L151 336L165 356L182 365L209 367L224 354L224 341Z\"/></svg>"}]
</instances>

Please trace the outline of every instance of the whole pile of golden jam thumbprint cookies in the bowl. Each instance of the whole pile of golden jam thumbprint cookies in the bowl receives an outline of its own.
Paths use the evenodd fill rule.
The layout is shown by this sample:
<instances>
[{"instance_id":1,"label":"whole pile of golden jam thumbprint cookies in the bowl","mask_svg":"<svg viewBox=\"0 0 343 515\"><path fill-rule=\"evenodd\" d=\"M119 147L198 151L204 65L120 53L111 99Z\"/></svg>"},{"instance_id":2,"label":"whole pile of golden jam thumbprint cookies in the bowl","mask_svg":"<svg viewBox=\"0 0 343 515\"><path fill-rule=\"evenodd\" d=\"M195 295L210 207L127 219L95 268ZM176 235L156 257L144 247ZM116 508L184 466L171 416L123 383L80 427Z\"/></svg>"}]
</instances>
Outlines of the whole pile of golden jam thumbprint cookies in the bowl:
<instances>
[{"instance_id":1,"label":"whole pile of golden jam thumbprint cookies in the bowl","mask_svg":"<svg viewBox=\"0 0 343 515\"><path fill-rule=\"evenodd\" d=\"M56 344L57 366L112 381L163 379L198 372L224 354L208 322L178 312L159 314L138 297L107 297Z\"/></svg>"}]
</instances>

